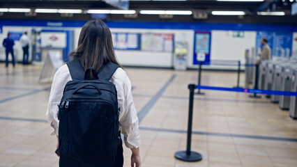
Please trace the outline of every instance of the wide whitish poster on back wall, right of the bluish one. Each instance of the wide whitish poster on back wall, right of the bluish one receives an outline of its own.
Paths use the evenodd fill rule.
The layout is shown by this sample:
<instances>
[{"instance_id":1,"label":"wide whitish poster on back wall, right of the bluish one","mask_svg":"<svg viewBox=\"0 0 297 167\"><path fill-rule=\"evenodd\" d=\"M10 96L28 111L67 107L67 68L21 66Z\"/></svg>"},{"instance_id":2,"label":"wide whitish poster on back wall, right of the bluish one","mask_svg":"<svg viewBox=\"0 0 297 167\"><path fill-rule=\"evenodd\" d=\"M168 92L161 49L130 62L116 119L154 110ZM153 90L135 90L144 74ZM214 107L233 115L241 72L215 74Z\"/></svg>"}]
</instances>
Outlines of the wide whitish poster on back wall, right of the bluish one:
<instances>
[{"instance_id":1,"label":"wide whitish poster on back wall, right of the bluish one","mask_svg":"<svg viewBox=\"0 0 297 167\"><path fill-rule=\"evenodd\" d=\"M174 35L169 33L142 34L142 50L173 51Z\"/></svg>"}]
</instances>

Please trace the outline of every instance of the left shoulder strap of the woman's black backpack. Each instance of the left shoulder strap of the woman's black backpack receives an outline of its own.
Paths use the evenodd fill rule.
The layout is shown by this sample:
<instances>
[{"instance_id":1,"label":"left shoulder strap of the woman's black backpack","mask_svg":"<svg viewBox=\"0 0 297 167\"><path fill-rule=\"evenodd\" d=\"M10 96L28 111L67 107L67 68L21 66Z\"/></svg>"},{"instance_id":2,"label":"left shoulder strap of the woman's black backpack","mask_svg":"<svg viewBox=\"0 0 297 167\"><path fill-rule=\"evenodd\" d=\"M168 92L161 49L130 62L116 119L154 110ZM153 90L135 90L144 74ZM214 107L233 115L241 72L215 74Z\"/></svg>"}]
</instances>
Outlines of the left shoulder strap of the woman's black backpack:
<instances>
[{"instance_id":1,"label":"left shoulder strap of the woman's black backpack","mask_svg":"<svg viewBox=\"0 0 297 167\"><path fill-rule=\"evenodd\" d=\"M84 69L78 59L68 61L67 66L73 81L84 80Z\"/></svg>"}]
</instances>

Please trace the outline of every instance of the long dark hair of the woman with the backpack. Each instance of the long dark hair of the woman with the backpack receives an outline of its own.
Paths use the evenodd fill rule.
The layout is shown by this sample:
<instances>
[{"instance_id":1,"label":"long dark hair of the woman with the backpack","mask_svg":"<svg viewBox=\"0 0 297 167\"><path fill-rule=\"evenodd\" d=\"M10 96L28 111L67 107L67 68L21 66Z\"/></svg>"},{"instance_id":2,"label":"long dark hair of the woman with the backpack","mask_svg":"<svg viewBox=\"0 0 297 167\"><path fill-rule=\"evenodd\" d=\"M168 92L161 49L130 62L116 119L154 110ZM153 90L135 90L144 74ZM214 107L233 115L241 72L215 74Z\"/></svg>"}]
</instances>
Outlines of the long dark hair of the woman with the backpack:
<instances>
[{"instance_id":1,"label":"long dark hair of the woman with the backpack","mask_svg":"<svg viewBox=\"0 0 297 167\"><path fill-rule=\"evenodd\" d=\"M96 72L99 72L107 62L120 65L114 54L112 33L100 19L94 19L84 24L79 34L77 49L71 51L69 56L79 59L84 71L93 67Z\"/></svg>"}]
</instances>

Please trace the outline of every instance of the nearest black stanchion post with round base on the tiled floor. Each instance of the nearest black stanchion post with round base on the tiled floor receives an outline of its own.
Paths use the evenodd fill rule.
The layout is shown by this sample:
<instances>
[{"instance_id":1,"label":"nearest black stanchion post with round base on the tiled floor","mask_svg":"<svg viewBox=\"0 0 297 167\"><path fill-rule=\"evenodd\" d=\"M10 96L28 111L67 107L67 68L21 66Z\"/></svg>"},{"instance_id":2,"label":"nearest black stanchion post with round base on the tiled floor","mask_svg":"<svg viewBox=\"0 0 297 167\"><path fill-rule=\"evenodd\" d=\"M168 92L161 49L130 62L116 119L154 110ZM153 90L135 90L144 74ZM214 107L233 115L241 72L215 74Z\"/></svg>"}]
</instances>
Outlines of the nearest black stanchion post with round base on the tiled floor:
<instances>
[{"instance_id":1,"label":"nearest black stanchion post with round base on the tiled floor","mask_svg":"<svg viewBox=\"0 0 297 167\"><path fill-rule=\"evenodd\" d=\"M193 118L193 104L194 104L194 90L195 84L189 84L190 98L189 98L189 118L188 118L188 136L187 136L187 150L178 151L174 154L176 159L181 161L201 161L202 155L198 152L191 151L191 138L192 138L192 118Z\"/></svg>"}]
</instances>

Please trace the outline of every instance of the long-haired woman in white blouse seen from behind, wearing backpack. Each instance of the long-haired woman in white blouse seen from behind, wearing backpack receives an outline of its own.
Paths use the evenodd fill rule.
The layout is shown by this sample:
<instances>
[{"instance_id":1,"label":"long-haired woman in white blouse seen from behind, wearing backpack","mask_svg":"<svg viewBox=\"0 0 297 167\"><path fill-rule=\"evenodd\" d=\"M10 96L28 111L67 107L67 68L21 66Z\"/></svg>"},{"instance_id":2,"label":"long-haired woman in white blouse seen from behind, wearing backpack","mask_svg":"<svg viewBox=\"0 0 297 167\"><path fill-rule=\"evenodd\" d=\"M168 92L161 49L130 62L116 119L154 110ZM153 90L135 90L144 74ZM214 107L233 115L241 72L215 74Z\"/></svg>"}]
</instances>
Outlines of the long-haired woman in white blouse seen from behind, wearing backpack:
<instances>
[{"instance_id":1,"label":"long-haired woman in white blouse seen from behind, wearing backpack","mask_svg":"<svg viewBox=\"0 0 297 167\"><path fill-rule=\"evenodd\" d=\"M102 124L102 126L94 127L91 124L93 124L93 122L95 123L97 122L96 115L94 115L93 117L87 117L83 115L85 113L77 113L76 111L70 111L71 108L74 110L77 105L80 105L80 107L83 107L84 111L86 109L90 110L91 105L93 105L92 104L93 101L88 103L75 104L77 100L76 101L64 100L66 98L66 97L64 98L64 96L66 96L66 91L68 90L73 91L72 92L73 95L71 97L75 98L75 95L77 96L79 94L79 91L82 91L83 89L86 90L84 93L87 93L87 91L89 90L97 89L98 98L99 97L101 98L104 95L105 95L105 98L107 98L107 94L105 94L105 92L107 91L99 88L100 86L97 86L97 85L93 85L89 87L82 86L81 87L82 89L76 88L76 90L74 90L75 88L72 89L69 86L70 84L75 85L77 83L85 82L85 81L79 82L79 79L77 81L74 81L75 80L74 76L79 76L79 74L76 75L75 72L73 72L75 70L77 71L77 73L80 72L79 70L81 70L82 72L85 72L84 77L82 74L82 80L86 78L90 79L91 81L93 81L92 84L98 81L98 85L99 85L100 84L99 81L101 81L100 77L103 77L103 74L107 74L108 72L110 72L110 70L107 70L108 65L114 65L114 66L117 65L117 68L114 68L115 69L114 73L111 75L112 77L109 79L109 81L112 82L112 85L114 85L116 88L117 108L119 108L117 111L118 115L116 116L116 119L118 119L116 121L119 121L119 122L117 123L115 122L115 125L117 124L119 126L119 132L121 132L121 134L123 134L124 136L125 146L132 150L131 166L137 166L137 167L140 166L141 165L140 156L139 156L140 136L139 136L137 112L135 109L134 102L132 100L131 83L130 83L130 79L128 78L125 71L122 69L121 65L119 65L118 61L116 61L116 56L114 54L114 47L112 44L112 33L110 32L108 26L99 19L91 20L87 22L82 27L82 31L79 35L77 49L75 49L70 53L70 57L72 58L72 61L70 61L68 65L61 66L59 70L56 72L56 74L54 75L54 80L52 82L52 89L50 92L49 105L48 105L47 114L46 114L47 121L50 122L51 126L54 128L54 132L52 133L52 135L55 134L58 139L57 153L61 154L60 161L59 161L60 167L123 166L123 148L122 148L121 140L119 140L119 145L116 146L117 147L115 151L116 156L115 157L113 156L113 158L111 158L110 161L108 160L108 156L109 156L108 152L112 152L111 149L107 149L107 150L105 149L104 150L105 152L103 153L102 153L103 150L99 149L99 148L104 148L105 145L109 145L110 143L114 142L114 138L107 137L109 135L108 134L109 132L107 129L113 126L112 124L110 124L109 126L109 121L110 121L109 116L107 115L105 116L105 123ZM70 64L75 64L75 62L77 66L70 65ZM98 77L96 76L97 74L98 74ZM99 79L99 80L96 80L96 79ZM106 85L108 85L108 83ZM64 95L63 95L63 92L64 92ZM109 94L112 95L112 93L109 93ZM93 97L96 97L96 95L94 95ZM86 104L86 105L82 106L82 104ZM90 104L90 105L87 105L87 104ZM101 103L98 102L96 103L96 105L99 107L100 105L103 105L103 104L102 102ZM106 107L107 106L104 106L104 107L102 106L102 108L106 108ZM68 113L66 111L68 111ZM95 111L92 108L90 113L93 114L94 112ZM109 114L109 113L106 113L106 114ZM76 120L74 118L71 118L74 115L77 116L77 118L75 118ZM68 120L66 119L66 116ZM101 117L102 116L98 116L98 118L101 118ZM89 121L89 119L93 119L93 120ZM71 122L73 122L73 124L71 124ZM99 119L98 119L98 122L100 122ZM86 125L91 125L91 126L86 126ZM93 128L92 131L88 129L89 127ZM102 127L105 128L102 131L102 132L105 132L105 134L101 133L100 128ZM96 128L98 129L98 131L96 131ZM68 132L66 132L65 129L68 129ZM114 129L117 129L117 128L114 128ZM92 133L90 134L89 132L92 132ZM69 136L67 137L66 135L64 135L66 133L72 133L72 134L68 134L70 136L73 134L79 134L79 135L76 135L76 136L73 135L71 137ZM114 134L116 133L118 132L115 132ZM88 137L88 135L91 137ZM61 136L64 136L64 138L62 138ZM100 140L98 141L98 145L100 143L100 147L98 145L93 145L94 149L98 148L97 150L95 149L94 151L93 148L89 149L89 148L84 148L84 146L82 146L82 145L88 145L88 144L90 145L90 143L93 142L92 140L94 140L93 138L97 138L97 137L100 138L100 140L105 141L105 144L101 144ZM80 143L77 141L80 141ZM92 152L92 154L89 154L89 152ZM96 154L98 154L98 158L96 158ZM91 158L88 158L88 157L93 157L93 160L91 160ZM80 161L80 159L83 159L83 160L87 159L87 160Z\"/></svg>"}]
</instances>

